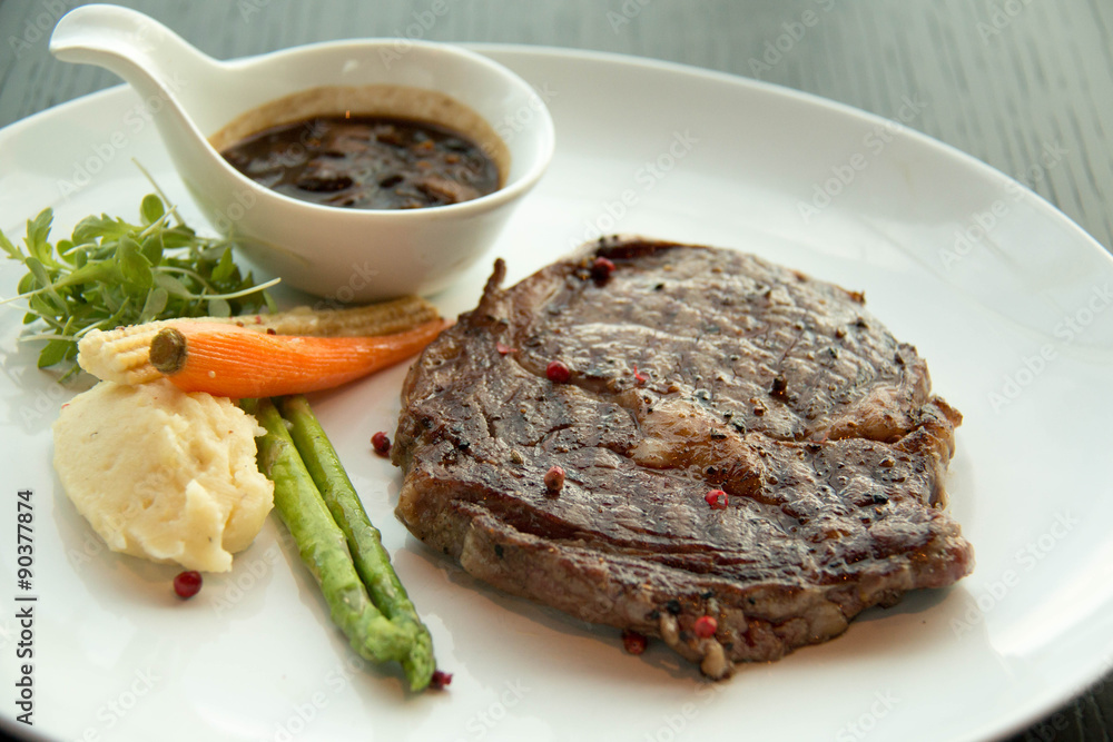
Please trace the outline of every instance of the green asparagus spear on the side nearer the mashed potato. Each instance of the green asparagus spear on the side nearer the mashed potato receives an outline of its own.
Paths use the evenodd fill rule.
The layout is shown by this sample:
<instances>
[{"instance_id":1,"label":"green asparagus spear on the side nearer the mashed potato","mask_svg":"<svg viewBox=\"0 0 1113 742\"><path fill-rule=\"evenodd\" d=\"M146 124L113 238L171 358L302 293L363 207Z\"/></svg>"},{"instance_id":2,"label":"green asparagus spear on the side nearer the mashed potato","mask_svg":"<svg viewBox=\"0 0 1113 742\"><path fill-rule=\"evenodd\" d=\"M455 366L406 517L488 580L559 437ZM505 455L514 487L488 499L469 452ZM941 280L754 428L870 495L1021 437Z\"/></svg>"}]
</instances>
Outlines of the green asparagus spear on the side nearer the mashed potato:
<instances>
[{"instance_id":1,"label":"green asparagus spear on the side nearer the mashed potato","mask_svg":"<svg viewBox=\"0 0 1113 742\"><path fill-rule=\"evenodd\" d=\"M278 410L269 399L240 404L267 431L258 439L259 469L275 483L275 509L294 536L302 562L321 585L333 622L361 656L375 662L406 660L414 632L391 623L371 602L344 533L305 471Z\"/></svg>"}]
</instances>

